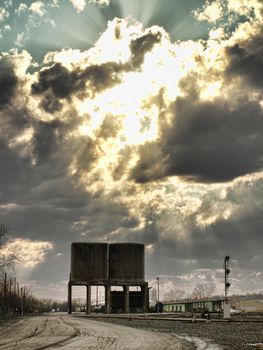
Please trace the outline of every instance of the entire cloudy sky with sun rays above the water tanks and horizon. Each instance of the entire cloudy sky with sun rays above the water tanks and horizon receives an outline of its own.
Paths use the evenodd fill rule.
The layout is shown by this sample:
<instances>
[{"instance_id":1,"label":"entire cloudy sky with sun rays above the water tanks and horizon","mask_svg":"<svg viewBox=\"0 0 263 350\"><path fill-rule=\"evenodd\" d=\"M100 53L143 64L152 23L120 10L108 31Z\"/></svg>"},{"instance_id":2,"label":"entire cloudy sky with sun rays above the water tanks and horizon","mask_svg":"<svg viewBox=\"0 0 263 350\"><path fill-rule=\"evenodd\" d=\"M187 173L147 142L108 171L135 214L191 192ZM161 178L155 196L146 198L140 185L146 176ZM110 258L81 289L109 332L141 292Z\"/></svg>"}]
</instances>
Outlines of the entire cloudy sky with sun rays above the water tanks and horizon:
<instances>
[{"instance_id":1,"label":"entire cloudy sky with sun rays above the water tanks and horizon","mask_svg":"<svg viewBox=\"0 0 263 350\"><path fill-rule=\"evenodd\" d=\"M71 242L145 244L161 295L263 291L263 3L0 2L0 223L66 298ZM77 295L77 294L76 294Z\"/></svg>"}]
</instances>

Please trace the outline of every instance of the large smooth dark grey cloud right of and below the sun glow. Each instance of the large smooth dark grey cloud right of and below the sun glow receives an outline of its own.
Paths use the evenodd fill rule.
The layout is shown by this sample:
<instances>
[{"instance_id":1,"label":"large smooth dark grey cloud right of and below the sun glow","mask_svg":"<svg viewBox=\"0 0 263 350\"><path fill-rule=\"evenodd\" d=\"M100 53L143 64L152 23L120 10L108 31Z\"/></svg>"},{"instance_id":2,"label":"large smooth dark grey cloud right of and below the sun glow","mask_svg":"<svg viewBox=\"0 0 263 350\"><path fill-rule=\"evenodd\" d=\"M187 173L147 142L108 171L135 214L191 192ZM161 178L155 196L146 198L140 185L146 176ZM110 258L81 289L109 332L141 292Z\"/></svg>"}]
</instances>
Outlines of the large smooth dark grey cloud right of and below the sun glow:
<instances>
[{"instance_id":1,"label":"large smooth dark grey cloud right of and below the sun glow","mask_svg":"<svg viewBox=\"0 0 263 350\"><path fill-rule=\"evenodd\" d=\"M178 175L199 182L223 182L262 169L263 111L244 97L236 105L178 98L174 120L153 144L142 147L132 176L147 182ZM158 154L159 153L159 154Z\"/></svg>"}]
</instances>

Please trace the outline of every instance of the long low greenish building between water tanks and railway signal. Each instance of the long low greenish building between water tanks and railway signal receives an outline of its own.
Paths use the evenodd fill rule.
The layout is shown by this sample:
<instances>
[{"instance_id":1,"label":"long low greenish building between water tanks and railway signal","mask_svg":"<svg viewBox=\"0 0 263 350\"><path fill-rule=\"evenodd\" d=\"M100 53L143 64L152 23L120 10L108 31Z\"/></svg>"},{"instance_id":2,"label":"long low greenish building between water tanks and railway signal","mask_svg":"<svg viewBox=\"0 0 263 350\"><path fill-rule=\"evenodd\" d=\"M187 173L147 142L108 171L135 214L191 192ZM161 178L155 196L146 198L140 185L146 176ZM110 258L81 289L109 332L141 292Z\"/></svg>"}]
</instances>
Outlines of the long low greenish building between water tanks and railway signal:
<instances>
[{"instance_id":1,"label":"long low greenish building between water tanks and railway signal","mask_svg":"<svg viewBox=\"0 0 263 350\"><path fill-rule=\"evenodd\" d=\"M165 312L220 312L223 310L224 300L207 299L207 300L188 300L188 301L171 301L164 303Z\"/></svg>"}]
</instances>

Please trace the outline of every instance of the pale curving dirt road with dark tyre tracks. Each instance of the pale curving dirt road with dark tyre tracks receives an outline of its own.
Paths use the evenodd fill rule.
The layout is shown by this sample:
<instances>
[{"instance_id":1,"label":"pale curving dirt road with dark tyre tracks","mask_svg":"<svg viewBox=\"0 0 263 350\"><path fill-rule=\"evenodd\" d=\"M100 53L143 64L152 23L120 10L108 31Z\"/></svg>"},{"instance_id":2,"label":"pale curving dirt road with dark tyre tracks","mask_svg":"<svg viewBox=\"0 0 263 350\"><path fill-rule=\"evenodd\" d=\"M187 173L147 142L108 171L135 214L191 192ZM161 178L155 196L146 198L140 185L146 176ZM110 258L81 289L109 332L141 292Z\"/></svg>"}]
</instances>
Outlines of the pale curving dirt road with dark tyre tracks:
<instances>
[{"instance_id":1,"label":"pale curving dirt road with dark tyre tracks","mask_svg":"<svg viewBox=\"0 0 263 350\"><path fill-rule=\"evenodd\" d=\"M0 349L191 349L172 334L102 323L68 315L34 316L0 332Z\"/></svg>"}]
</instances>

